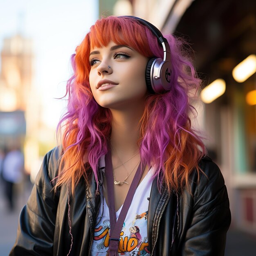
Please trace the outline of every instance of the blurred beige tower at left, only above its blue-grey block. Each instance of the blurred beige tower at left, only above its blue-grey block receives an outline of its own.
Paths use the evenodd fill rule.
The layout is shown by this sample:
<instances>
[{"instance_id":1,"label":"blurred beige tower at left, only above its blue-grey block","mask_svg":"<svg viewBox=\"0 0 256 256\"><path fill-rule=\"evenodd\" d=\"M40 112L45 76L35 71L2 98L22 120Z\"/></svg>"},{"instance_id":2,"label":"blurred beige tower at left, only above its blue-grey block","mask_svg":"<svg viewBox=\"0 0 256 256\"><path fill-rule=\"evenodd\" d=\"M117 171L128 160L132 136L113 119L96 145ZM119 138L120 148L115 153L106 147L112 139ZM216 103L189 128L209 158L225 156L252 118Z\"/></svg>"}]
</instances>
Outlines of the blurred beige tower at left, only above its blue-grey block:
<instances>
[{"instance_id":1,"label":"blurred beige tower at left, only above its blue-grey block","mask_svg":"<svg viewBox=\"0 0 256 256\"><path fill-rule=\"evenodd\" d=\"M4 39L1 51L0 109L27 108L27 94L32 80L32 41L20 35Z\"/></svg>"}]
</instances>

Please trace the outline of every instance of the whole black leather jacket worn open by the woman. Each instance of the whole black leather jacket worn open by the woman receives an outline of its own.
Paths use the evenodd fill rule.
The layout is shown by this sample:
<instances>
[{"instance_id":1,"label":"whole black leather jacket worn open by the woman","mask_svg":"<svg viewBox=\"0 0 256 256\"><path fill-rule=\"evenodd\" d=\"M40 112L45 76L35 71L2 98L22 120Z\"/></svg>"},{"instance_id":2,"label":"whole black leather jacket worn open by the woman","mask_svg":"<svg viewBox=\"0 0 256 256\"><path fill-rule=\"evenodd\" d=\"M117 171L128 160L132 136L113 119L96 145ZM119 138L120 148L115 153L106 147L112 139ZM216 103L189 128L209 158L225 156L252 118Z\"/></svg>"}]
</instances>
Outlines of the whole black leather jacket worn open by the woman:
<instances>
[{"instance_id":1,"label":"whole black leather jacket worn open by the woman","mask_svg":"<svg viewBox=\"0 0 256 256\"><path fill-rule=\"evenodd\" d=\"M90 255L100 195L92 179L81 181L75 198L66 186L54 194L51 180L58 170L59 148L44 158L27 204L20 213L11 256ZM206 175L191 175L191 191L159 194L153 181L148 208L149 250L155 256L224 255L231 215L227 189L211 159L200 166ZM69 253L70 252L70 253Z\"/></svg>"}]
</instances>

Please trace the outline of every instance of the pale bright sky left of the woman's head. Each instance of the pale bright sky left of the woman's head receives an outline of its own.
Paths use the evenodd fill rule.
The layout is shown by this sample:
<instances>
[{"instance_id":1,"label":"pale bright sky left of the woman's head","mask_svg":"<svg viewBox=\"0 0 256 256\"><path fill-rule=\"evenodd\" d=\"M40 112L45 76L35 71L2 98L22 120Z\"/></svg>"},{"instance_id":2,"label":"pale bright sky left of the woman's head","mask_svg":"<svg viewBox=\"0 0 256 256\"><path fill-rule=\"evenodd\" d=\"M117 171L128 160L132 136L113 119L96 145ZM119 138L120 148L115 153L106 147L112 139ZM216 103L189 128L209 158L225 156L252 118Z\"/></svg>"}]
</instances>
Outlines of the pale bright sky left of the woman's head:
<instances>
[{"instance_id":1,"label":"pale bright sky left of the woman's head","mask_svg":"<svg viewBox=\"0 0 256 256\"><path fill-rule=\"evenodd\" d=\"M54 98L65 93L70 56L97 20L98 9L97 0L0 0L0 50L3 38L18 32L33 40L33 85L50 128L56 128L65 108Z\"/></svg>"}]
</instances>

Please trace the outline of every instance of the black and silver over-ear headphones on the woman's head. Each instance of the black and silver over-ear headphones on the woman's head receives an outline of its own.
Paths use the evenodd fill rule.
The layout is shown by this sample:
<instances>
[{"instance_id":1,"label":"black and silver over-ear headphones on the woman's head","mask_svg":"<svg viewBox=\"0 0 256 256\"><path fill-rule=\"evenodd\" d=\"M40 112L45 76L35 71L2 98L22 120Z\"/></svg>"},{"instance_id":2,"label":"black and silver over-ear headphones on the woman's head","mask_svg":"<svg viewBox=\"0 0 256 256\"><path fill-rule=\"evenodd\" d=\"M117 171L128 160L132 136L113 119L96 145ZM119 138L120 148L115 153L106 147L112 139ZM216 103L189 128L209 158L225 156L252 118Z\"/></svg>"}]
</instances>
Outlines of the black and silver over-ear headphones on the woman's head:
<instances>
[{"instance_id":1,"label":"black and silver over-ear headphones on the woman's head","mask_svg":"<svg viewBox=\"0 0 256 256\"><path fill-rule=\"evenodd\" d=\"M150 22L136 16L118 16L120 18L132 18L148 27L157 37L158 42L164 50L164 59L150 58L146 65L146 85L150 92L161 93L171 90L171 49L170 46L157 27Z\"/></svg>"}]
</instances>

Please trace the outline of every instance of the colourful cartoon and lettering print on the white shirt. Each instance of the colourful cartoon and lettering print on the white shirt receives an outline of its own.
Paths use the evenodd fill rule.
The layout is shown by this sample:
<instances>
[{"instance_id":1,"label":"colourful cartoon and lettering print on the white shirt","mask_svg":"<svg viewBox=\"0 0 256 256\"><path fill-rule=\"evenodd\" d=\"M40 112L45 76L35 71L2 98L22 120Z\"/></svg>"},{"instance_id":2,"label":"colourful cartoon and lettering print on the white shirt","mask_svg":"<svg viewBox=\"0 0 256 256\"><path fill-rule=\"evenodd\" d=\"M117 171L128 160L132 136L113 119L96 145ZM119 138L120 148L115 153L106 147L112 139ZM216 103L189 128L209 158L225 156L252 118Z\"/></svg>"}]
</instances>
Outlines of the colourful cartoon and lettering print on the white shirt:
<instances>
[{"instance_id":1,"label":"colourful cartoon and lettering print on the white shirt","mask_svg":"<svg viewBox=\"0 0 256 256\"><path fill-rule=\"evenodd\" d=\"M147 218L148 211L135 214L135 218L128 225L124 223L119 240L118 252L120 255L146 256L150 254L146 228ZM97 249L93 248L93 251L99 252L99 255L108 252L109 230L109 221L104 221L103 225L95 227L94 241L97 241L97 243L94 243L94 245L97 244Z\"/></svg>"}]
</instances>

